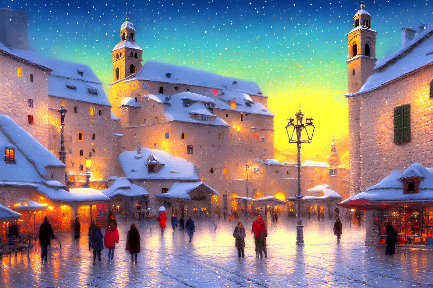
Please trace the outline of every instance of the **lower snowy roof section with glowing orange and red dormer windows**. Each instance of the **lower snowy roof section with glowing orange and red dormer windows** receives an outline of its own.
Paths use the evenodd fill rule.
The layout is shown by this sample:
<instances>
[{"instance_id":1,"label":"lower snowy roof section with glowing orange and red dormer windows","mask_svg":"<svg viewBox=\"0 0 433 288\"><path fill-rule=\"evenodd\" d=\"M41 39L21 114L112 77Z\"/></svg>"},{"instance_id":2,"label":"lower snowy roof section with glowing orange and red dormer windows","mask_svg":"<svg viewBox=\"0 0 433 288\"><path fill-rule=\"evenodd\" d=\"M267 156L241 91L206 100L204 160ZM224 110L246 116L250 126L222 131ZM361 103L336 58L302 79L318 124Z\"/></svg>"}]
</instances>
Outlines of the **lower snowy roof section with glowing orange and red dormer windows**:
<instances>
[{"instance_id":1,"label":"lower snowy roof section with glowing orange and red dormer windows","mask_svg":"<svg viewBox=\"0 0 433 288\"><path fill-rule=\"evenodd\" d=\"M213 95L212 95L213 96ZM221 90L215 99L215 109L233 110L249 114L275 116L268 108L259 102L253 102L251 97L242 92L232 90ZM235 105L233 105L233 103Z\"/></svg>"}]
</instances>

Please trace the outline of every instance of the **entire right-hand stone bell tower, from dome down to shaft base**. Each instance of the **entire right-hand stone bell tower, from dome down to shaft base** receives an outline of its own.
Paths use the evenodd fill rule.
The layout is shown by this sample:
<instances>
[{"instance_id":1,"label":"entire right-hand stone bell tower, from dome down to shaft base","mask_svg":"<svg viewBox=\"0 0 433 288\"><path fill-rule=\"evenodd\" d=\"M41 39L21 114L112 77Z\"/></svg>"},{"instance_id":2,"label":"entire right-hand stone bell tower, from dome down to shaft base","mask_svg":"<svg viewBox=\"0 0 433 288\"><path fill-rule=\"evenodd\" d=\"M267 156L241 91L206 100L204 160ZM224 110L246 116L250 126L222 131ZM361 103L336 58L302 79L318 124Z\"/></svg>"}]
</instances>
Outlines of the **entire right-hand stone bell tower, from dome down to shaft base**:
<instances>
[{"instance_id":1,"label":"entire right-hand stone bell tower, from dome down to shaft base","mask_svg":"<svg viewBox=\"0 0 433 288\"><path fill-rule=\"evenodd\" d=\"M368 77L374 73L376 63L376 35L372 30L372 16L362 9L353 16L353 29L347 33L349 48L348 66L349 95L349 166L350 195L360 191L361 183L361 100L357 93Z\"/></svg>"}]
</instances>

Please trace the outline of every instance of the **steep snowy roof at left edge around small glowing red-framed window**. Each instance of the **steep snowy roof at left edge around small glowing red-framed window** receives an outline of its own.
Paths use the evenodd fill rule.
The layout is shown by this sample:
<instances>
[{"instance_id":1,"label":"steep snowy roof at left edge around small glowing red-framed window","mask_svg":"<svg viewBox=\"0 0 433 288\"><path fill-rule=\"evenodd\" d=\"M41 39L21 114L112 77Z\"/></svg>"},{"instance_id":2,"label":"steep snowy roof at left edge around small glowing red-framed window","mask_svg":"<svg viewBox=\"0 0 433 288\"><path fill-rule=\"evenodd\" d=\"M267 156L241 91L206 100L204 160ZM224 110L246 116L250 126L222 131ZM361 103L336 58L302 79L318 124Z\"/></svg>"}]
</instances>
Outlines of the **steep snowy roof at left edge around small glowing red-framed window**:
<instances>
[{"instance_id":1,"label":"steep snowy roof at left edge around small glowing red-framed window","mask_svg":"<svg viewBox=\"0 0 433 288\"><path fill-rule=\"evenodd\" d=\"M32 178L40 180L40 176L47 175L46 167L66 167L54 154L36 141L32 135L16 124L9 116L0 114L0 130L3 132L0 133L0 142L2 142L3 147L19 150L15 151L16 165L3 163L2 173L0 173L1 180L24 180L24 182L28 182ZM20 162L23 159L21 157L25 157L28 162ZM30 163L33 165L30 165ZM39 175L33 172L35 167Z\"/></svg>"}]
</instances>

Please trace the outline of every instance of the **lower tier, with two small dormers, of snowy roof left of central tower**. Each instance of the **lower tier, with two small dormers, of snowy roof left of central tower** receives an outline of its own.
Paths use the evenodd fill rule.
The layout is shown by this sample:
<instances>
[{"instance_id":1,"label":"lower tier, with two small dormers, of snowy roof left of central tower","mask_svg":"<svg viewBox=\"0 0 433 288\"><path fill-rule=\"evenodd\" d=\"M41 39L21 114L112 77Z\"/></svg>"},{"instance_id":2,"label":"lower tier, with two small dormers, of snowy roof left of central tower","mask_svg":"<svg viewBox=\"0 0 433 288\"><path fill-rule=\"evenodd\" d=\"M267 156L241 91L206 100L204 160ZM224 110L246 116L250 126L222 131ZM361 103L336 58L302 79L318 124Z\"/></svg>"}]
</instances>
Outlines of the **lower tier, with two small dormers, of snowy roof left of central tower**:
<instances>
[{"instance_id":1,"label":"lower tier, with two small dormers, of snowy roof left of central tower","mask_svg":"<svg viewBox=\"0 0 433 288\"><path fill-rule=\"evenodd\" d=\"M68 88L72 87L71 88ZM89 92L89 89L91 92ZM96 93L94 93L96 91ZM48 75L48 95L111 106L101 84Z\"/></svg>"}]
</instances>

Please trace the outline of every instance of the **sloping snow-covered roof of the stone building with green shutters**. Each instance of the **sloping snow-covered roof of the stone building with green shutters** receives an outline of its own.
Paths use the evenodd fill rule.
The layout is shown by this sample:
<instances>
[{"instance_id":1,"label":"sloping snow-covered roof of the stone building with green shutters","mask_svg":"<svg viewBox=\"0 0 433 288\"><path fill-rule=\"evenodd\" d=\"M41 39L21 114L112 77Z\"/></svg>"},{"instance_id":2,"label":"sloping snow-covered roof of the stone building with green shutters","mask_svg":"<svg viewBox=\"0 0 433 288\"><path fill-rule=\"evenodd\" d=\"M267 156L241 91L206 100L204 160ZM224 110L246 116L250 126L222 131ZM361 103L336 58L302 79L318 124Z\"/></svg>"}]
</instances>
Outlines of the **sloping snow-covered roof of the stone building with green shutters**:
<instances>
[{"instance_id":1,"label":"sloping snow-covered roof of the stone building with green shutters","mask_svg":"<svg viewBox=\"0 0 433 288\"><path fill-rule=\"evenodd\" d=\"M358 93L365 93L386 85L391 80L433 62L433 25L428 26L388 58L376 61L375 73L368 77ZM350 94L349 94L350 95Z\"/></svg>"}]
</instances>

